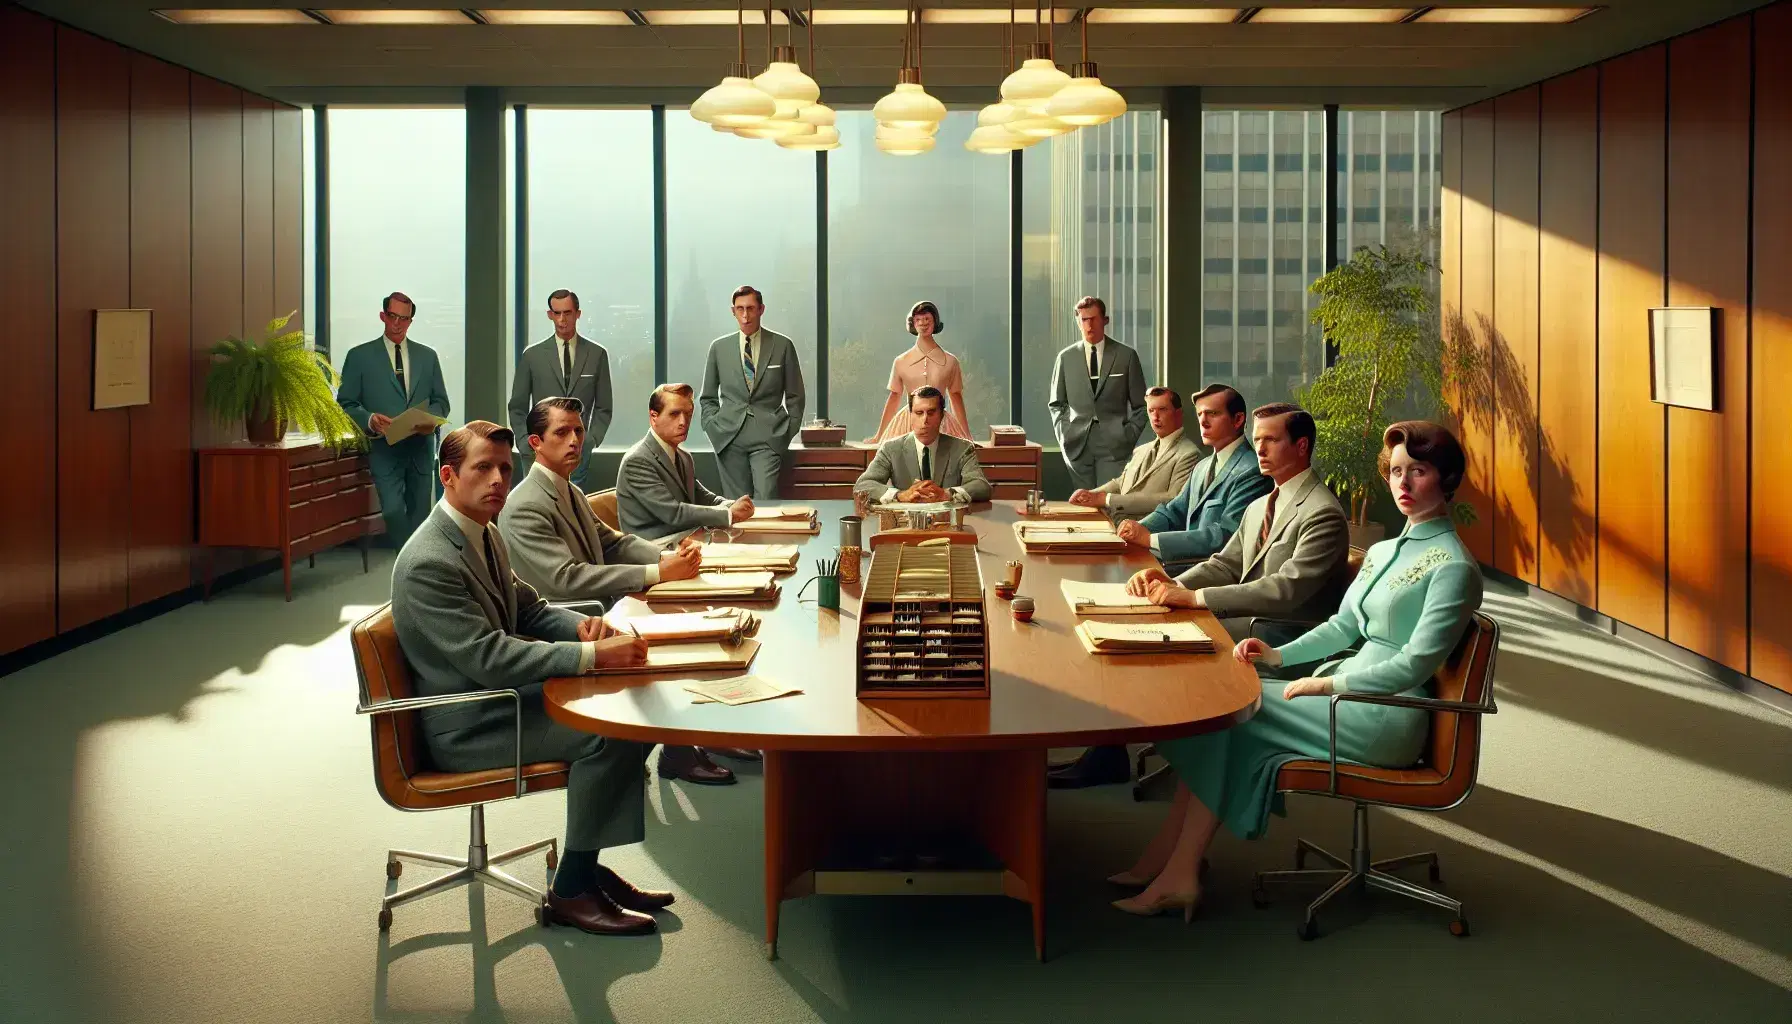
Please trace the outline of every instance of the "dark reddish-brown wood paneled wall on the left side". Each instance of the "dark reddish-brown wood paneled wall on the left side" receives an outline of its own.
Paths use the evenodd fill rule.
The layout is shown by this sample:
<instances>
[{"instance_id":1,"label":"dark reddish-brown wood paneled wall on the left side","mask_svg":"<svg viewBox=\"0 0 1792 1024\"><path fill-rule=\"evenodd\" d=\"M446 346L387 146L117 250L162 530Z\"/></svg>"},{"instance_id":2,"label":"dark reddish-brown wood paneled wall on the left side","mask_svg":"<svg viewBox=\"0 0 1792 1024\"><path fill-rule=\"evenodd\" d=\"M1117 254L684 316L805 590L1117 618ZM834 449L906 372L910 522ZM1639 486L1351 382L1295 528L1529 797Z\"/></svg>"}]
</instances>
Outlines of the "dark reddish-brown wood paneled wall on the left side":
<instances>
[{"instance_id":1,"label":"dark reddish-brown wood paneled wall on the left side","mask_svg":"<svg viewBox=\"0 0 1792 1024\"><path fill-rule=\"evenodd\" d=\"M0 407L27 441L0 655L192 585L194 447L229 436L204 421L204 350L301 301L299 131L0 4ZM93 409L100 308L152 310L149 405Z\"/></svg>"}]
</instances>

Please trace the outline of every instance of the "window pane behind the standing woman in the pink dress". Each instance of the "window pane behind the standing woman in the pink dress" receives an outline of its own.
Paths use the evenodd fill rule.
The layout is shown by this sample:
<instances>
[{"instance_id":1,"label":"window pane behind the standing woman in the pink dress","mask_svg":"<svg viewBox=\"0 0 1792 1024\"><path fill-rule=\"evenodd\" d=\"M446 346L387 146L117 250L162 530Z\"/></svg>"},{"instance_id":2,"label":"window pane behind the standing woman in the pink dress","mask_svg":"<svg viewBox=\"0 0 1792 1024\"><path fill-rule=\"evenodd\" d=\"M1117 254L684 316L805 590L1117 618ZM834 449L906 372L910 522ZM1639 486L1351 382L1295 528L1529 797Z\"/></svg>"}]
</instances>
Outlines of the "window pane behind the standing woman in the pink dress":
<instances>
[{"instance_id":1,"label":"window pane behind the standing woman in the pink dress","mask_svg":"<svg viewBox=\"0 0 1792 1024\"><path fill-rule=\"evenodd\" d=\"M973 438L1009 421L1009 161L964 149L975 111L952 111L932 152L891 156L871 111L840 111L828 154L828 416L869 438L891 364L930 299L939 344L964 371Z\"/></svg>"}]
</instances>

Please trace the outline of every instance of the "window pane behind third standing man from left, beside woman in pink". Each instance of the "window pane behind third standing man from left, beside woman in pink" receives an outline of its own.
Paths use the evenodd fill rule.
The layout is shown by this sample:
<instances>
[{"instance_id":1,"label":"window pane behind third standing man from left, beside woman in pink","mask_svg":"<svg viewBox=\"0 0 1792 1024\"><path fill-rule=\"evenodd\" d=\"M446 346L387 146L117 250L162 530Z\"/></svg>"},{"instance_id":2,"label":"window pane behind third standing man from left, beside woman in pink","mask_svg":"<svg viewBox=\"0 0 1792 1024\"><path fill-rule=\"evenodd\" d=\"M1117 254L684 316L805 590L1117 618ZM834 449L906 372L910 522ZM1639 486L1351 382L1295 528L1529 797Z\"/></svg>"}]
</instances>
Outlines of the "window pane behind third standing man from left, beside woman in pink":
<instances>
[{"instance_id":1,"label":"window pane behind third standing man from left, beside woman in pink","mask_svg":"<svg viewBox=\"0 0 1792 1024\"><path fill-rule=\"evenodd\" d=\"M765 328L796 344L808 391L803 418L812 418L819 411L815 154L720 133L668 109L667 357L674 380L702 387L710 343L738 330L729 314L738 285L760 289ZM690 434L694 448L710 445L701 425Z\"/></svg>"}]
</instances>

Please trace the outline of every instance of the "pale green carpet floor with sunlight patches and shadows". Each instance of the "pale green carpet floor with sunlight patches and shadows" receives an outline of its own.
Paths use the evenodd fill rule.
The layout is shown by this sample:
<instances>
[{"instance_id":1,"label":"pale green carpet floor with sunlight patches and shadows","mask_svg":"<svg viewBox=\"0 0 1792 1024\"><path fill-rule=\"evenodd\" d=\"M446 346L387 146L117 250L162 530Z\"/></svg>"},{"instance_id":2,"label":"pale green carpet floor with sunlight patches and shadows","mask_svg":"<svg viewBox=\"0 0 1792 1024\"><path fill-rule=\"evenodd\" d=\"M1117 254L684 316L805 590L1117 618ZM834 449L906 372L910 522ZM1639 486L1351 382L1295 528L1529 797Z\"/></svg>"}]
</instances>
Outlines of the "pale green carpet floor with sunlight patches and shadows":
<instances>
[{"instance_id":1,"label":"pale green carpet floor with sunlight patches and shadows","mask_svg":"<svg viewBox=\"0 0 1792 1024\"><path fill-rule=\"evenodd\" d=\"M1385 897L1312 943L1297 898L1253 909L1297 834L1348 848L1317 798L1219 841L1192 927L1124 916L1100 879L1163 805L1102 787L1050 800L1050 963L1016 902L848 897L785 904L769 963L751 769L654 782L647 843L611 857L677 889L654 938L541 931L478 889L382 934L383 852L466 841L373 787L348 624L389 567L332 552L292 604L263 577L0 680L0 1022L1792 1020L1792 717L1518 597L1487 604L1480 787L1373 818L1378 855L1443 854L1468 940ZM493 846L563 807L491 807Z\"/></svg>"}]
</instances>

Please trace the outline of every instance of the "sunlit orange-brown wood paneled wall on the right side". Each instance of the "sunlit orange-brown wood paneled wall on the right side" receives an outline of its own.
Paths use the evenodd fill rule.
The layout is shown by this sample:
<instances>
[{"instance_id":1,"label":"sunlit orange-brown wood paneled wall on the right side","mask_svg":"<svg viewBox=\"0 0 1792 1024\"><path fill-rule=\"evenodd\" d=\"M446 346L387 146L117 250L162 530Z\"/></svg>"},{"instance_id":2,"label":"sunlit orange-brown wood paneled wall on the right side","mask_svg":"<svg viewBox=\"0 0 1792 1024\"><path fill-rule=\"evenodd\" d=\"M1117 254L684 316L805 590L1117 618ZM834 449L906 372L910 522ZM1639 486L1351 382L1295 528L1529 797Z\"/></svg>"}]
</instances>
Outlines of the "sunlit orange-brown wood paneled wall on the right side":
<instances>
[{"instance_id":1,"label":"sunlit orange-brown wood paneled wall on the right side","mask_svg":"<svg viewBox=\"0 0 1792 1024\"><path fill-rule=\"evenodd\" d=\"M1448 113L1443 292L1491 359L1477 554L1792 690L1788 43L1781 2ZM1715 412L1650 400L1661 305L1719 310Z\"/></svg>"}]
</instances>

